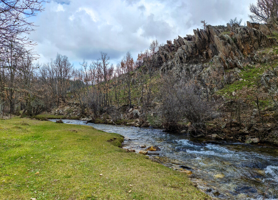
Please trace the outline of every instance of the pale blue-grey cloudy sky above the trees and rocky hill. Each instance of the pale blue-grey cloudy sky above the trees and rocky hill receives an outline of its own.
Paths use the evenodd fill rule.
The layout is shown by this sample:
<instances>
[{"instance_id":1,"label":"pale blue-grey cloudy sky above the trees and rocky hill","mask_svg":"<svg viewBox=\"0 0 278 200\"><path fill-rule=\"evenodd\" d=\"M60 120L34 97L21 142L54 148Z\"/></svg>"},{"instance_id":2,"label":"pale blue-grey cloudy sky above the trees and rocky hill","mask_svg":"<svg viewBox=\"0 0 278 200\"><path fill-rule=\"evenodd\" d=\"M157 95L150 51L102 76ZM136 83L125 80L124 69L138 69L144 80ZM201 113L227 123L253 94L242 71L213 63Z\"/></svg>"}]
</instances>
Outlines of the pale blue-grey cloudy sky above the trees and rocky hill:
<instances>
[{"instance_id":1,"label":"pale blue-grey cloudy sky above the trees and rocky hill","mask_svg":"<svg viewBox=\"0 0 278 200\"><path fill-rule=\"evenodd\" d=\"M205 19L211 25L230 18L248 20L255 0L50 0L33 20L30 38L38 44L39 62L57 53L67 55L75 67L107 52L113 64L127 51L136 59L153 39L166 43L178 35L193 34Z\"/></svg>"}]
</instances>

